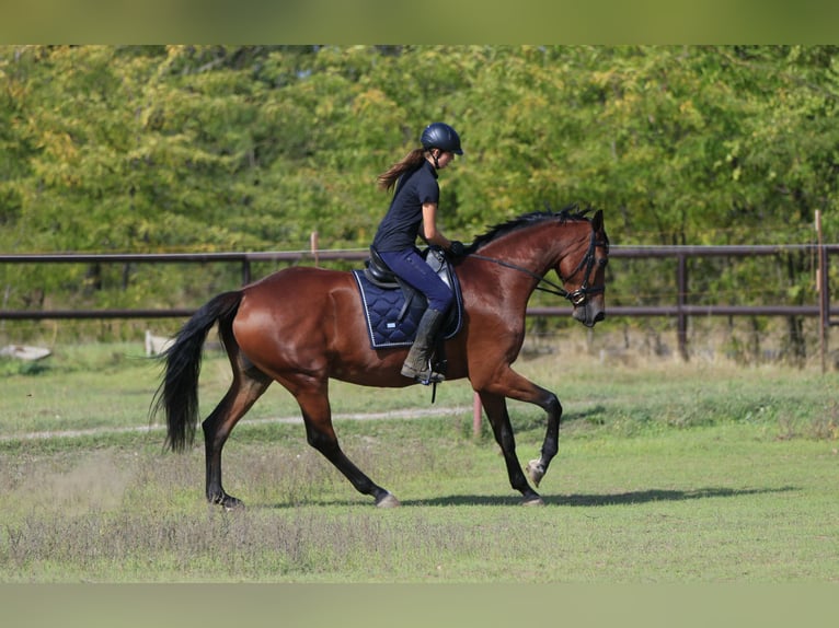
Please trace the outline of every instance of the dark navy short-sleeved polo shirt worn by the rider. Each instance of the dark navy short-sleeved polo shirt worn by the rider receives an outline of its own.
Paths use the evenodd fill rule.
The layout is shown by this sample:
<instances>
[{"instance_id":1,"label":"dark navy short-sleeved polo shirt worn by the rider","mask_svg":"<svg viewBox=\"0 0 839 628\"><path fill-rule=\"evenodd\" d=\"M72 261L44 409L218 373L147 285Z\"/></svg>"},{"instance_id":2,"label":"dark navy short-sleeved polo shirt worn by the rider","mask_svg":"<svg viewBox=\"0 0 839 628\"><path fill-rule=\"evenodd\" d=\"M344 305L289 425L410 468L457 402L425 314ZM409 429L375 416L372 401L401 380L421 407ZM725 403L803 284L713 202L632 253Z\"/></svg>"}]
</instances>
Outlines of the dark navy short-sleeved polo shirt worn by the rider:
<instances>
[{"instance_id":1,"label":"dark navy short-sleeved polo shirt worn by the rider","mask_svg":"<svg viewBox=\"0 0 839 628\"><path fill-rule=\"evenodd\" d=\"M390 209L373 237L373 248L388 253L416 246L416 236L423 222L423 203L439 203L439 200L437 171L428 161L423 161L420 167L405 173L398 182Z\"/></svg>"}]
</instances>

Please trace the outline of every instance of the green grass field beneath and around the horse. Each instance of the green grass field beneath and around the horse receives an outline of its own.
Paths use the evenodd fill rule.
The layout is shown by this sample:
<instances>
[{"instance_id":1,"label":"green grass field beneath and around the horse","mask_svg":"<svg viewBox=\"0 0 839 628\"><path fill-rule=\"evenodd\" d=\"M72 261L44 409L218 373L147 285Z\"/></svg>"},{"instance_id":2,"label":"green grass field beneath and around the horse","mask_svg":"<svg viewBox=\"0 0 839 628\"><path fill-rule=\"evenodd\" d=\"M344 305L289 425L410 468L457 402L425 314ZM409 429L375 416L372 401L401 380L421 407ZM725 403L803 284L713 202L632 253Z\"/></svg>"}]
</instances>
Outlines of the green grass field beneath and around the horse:
<instances>
[{"instance_id":1,"label":"green grass field beneath and around the horse","mask_svg":"<svg viewBox=\"0 0 839 628\"><path fill-rule=\"evenodd\" d=\"M248 508L225 513L204 502L203 443L168 453L148 423L153 362L127 346L49 360L3 375L2 582L839 581L835 372L522 360L565 408L536 509L518 505L486 427L473 437L466 383L434 406L418 386L334 385L342 444L400 498L392 511L306 444L276 387L226 449L226 487ZM207 357L204 414L227 373ZM526 463L541 412L510 408Z\"/></svg>"}]
</instances>

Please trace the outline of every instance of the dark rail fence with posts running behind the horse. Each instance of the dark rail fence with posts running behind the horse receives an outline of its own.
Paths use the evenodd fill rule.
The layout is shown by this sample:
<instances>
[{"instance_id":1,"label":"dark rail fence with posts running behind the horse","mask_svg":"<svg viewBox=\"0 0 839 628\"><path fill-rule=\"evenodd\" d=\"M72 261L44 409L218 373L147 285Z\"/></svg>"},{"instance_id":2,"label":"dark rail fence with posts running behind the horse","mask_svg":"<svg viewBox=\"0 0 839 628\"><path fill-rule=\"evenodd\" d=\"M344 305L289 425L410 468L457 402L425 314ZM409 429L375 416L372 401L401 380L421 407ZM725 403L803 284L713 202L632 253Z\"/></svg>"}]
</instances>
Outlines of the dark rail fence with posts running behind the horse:
<instances>
[{"instance_id":1,"label":"dark rail fence with posts running behind the horse","mask_svg":"<svg viewBox=\"0 0 839 628\"><path fill-rule=\"evenodd\" d=\"M816 286L818 302L803 305L691 305L688 286L688 260L694 257L754 257L790 252L806 252L817 259ZM839 253L839 244L754 245L754 246L612 246L611 258L675 258L676 303L669 305L611 305L609 316L663 316L676 318L679 351L687 357L688 319L691 316L818 316L823 357L826 351L830 325L839 324L831 315L829 287L829 257ZM322 260L361 261L366 251L303 251L258 253L158 253L158 254L0 254L0 264L173 264L173 263L238 263L241 264L242 283L252 280L251 265L256 261L287 264ZM186 317L195 309L169 310L0 310L0 321L51 318L170 318ZM528 307L529 316L558 316L567 314L567 306Z\"/></svg>"}]
</instances>

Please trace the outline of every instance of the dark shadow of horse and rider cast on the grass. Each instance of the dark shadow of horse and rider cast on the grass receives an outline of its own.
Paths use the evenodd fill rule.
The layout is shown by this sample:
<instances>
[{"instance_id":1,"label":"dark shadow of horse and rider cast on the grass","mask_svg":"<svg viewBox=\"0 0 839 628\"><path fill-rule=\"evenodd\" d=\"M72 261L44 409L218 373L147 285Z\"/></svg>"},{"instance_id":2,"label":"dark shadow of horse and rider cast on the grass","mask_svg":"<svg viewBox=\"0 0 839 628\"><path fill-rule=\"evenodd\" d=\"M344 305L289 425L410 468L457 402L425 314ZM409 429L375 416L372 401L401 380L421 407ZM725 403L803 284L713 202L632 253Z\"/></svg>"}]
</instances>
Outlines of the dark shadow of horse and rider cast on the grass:
<instances>
[{"instance_id":1,"label":"dark shadow of horse and rider cast on the grass","mask_svg":"<svg viewBox=\"0 0 839 628\"><path fill-rule=\"evenodd\" d=\"M699 488L694 490L648 489L619 493L604 495L542 495L545 505L570 507L602 507L602 505L629 505L650 503L655 501L688 501L692 499L708 499L716 497L737 498L751 495L770 495L801 490L796 487L784 486L780 488L760 489L733 489L723 487ZM403 507L422 505L518 505L521 498L516 496L482 496L482 495L452 495L430 499L400 500ZM303 503L275 503L256 505L256 508L284 509L299 505L359 505L358 500L307 500ZM372 504L372 502L369 502Z\"/></svg>"}]
</instances>

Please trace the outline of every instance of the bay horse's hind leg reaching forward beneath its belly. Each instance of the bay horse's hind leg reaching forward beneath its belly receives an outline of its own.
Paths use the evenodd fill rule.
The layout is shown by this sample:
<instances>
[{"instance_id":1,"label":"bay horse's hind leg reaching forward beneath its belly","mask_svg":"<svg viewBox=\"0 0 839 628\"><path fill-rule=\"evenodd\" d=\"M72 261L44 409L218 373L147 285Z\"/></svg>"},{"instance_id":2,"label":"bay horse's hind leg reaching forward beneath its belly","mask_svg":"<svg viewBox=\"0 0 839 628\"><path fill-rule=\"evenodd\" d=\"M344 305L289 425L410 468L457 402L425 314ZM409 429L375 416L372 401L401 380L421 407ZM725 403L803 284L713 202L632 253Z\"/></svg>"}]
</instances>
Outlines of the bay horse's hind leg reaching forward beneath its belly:
<instances>
[{"instance_id":1,"label":"bay horse's hind leg reaching forward beneath its belly","mask_svg":"<svg viewBox=\"0 0 839 628\"><path fill-rule=\"evenodd\" d=\"M344 474L358 492L371 496L376 500L376 505L379 508L400 505L395 497L367 477L341 450L332 427L326 383L307 385L298 389L295 397L303 414L309 444L335 465L335 468Z\"/></svg>"}]
</instances>

